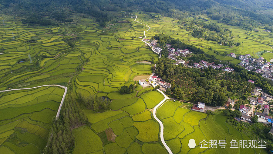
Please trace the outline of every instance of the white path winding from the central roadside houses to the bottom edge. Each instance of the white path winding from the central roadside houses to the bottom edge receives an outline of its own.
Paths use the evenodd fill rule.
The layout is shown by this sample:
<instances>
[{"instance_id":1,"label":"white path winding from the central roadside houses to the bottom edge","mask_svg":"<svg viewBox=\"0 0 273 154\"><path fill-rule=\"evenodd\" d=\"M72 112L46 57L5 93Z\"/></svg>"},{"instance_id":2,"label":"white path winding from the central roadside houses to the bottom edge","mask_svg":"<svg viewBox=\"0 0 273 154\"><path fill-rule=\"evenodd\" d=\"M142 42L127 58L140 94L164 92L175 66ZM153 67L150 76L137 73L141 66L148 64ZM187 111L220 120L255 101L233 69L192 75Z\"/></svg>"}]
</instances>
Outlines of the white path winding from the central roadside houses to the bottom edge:
<instances>
[{"instance_id":1,"label":"white path winding from the central roadside houses to the bottom edge","mask_svg":"<svg viewBox=\"0 0 273 154\"><path fill-rule=\"evenodd\" d=\"M163 143L163 145L165 146L165 148L167 149L167 151L169 152L169 154L173 154L173 152L170 150L170 148L168 147L168 145L166 144L166 142L164 141L164 136L163 136L163 133L164 133L164 126L162 124L162 122L157 118L156 116L156 113L157 113L157 108L159 108L161 105L164 104L164 102L168 99L170 99L169 97L167 97L161 90L157 89L157 91L159 91L163 96L164 96L164 99L157 104L157 106L155 106L153 108L153 117L157 120L157 122L160 124L160 139L161 139L161 142Z\"/></svg>"}]
</instances>

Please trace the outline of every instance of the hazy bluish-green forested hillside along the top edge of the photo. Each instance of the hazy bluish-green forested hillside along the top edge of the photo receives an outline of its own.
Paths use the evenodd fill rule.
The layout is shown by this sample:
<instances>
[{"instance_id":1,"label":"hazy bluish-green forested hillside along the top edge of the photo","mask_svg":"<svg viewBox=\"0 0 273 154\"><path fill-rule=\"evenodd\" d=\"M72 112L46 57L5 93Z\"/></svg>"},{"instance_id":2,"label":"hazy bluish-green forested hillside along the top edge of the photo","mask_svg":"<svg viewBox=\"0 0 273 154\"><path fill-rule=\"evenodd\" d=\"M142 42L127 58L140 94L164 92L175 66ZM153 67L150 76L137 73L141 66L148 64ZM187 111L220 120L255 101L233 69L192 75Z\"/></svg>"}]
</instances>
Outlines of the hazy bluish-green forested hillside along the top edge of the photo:
<instances>
[{"instance_id":1,"label":"hazy bluish-green forested hillside along the top edge of the photo","mask_svg":"<svg viewBox=\"0 0 273 154\"><path fill-rule=\"evenodd\" d=\"M156 12L177 19L207 14L211 19L219 22L248 29L253 29L258 23L268 24L269 29L272 29L273 24L273 12L270 10L273 5L269 0L0 0L2 13L19 16L49 15L59 21L72 22L69 14L62 11L52 12L52 10L62 10L68 7L72 8L73 12L96 17L101 26L113 19L110 11L131 12L133 9Z\"/></svg>"}]
</instances>

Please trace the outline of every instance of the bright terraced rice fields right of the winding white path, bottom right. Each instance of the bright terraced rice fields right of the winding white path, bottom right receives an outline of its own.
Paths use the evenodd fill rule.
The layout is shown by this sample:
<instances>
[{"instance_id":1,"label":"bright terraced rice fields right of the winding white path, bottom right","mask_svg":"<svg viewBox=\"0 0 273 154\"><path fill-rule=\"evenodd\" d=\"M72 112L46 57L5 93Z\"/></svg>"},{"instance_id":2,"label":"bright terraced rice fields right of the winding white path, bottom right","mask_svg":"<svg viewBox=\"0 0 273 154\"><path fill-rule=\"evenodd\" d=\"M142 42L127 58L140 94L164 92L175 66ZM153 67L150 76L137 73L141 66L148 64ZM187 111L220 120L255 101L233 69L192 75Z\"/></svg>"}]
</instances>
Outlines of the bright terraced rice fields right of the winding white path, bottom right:
<instances>
[{"instance_id":1,"label":"bright terraced rice fields right of the winding white path, bottom right","mask_svg":"<svg viewBox=\"0 0 273 154\"><path fill-rule=\"evenodd\" d=\"M164 125L164 139L173 153L267 153L264 149L230 148L231 140L251 140L226 123L226 116L207 115L205 113L181 108L181 103L167 101L157 110L157 117ZM189 140L194 139L197 147L189 149ZM222 149L200 148L199 142L205 140L226 140Z\"/></svg>"}]
</instances>

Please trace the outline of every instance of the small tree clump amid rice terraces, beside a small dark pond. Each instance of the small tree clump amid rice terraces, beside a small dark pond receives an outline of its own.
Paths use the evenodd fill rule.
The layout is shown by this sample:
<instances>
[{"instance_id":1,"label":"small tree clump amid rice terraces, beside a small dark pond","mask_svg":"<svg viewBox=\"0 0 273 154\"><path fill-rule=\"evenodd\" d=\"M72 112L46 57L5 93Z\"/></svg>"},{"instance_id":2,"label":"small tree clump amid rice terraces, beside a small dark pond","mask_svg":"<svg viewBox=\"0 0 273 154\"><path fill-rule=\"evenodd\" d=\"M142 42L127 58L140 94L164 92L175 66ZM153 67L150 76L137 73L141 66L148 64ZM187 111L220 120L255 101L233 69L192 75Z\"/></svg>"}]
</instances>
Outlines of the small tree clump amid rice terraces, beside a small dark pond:
<instances>
[{"instance_id":1,"label":"small tree clump amid rice terraces, beside a small dark pond","mask_svg":"<svg viewBox=\"0 0 273 154\"><path fill-rule=\"evenodd\" d=\"M97 95L85 97L80 93L78 99L86 108L95 112L108 110L110 107L110 100L106 97L98 97Z\"/></svg>"}]
</instances>

